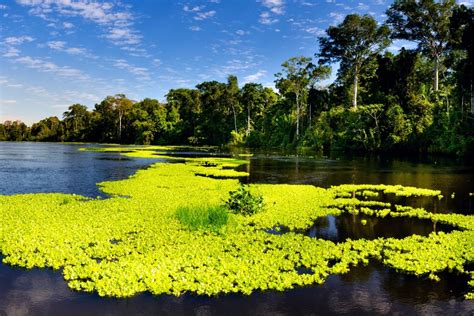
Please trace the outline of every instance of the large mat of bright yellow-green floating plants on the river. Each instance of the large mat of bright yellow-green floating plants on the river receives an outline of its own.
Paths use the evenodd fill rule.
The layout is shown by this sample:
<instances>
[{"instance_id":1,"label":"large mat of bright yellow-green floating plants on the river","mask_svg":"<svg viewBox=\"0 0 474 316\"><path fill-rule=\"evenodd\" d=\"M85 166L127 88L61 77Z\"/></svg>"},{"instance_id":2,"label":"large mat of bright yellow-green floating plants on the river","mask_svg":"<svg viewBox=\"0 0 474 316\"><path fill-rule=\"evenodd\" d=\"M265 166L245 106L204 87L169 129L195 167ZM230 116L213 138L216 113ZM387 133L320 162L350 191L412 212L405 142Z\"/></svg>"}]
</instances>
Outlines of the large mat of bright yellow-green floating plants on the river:
<instances>
[{"instance_id":1,"label":"large mat of bright yellow-green floating plants on the river","mask_svg":"<svg viewBox=\"0 0 474 316\"><path fill-rule=\"evenodd\" d=\"M157 157L146 147L123 151L125 156ZM229 214L218 229L204 224L190 229L179 221L178 209L223 205L243 175L229 168L245 163L215 157L157 163L126 180L100 183L112 196L106 200L57 193L0 196L3 262L61 269L70 288L113 297L146 291L218 295L285 290L322 283L369 260L433 280L446 271L462 273L474 286L474 271L468 268L474 262L474 216L435 214L370 199L380 193L438 196L439 191L388 185L251 185L264 199L261 212ZM209 177L222 174L230 178ZM338 243L300 233L318 219L341 214L411 217L455 229ZM275 227L287 232L269 234ZM474 292L466 297L474 298Z\"/></svg>"}]
</instances>

